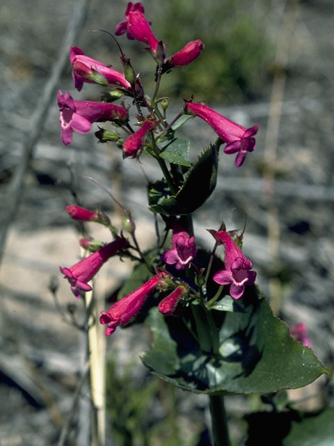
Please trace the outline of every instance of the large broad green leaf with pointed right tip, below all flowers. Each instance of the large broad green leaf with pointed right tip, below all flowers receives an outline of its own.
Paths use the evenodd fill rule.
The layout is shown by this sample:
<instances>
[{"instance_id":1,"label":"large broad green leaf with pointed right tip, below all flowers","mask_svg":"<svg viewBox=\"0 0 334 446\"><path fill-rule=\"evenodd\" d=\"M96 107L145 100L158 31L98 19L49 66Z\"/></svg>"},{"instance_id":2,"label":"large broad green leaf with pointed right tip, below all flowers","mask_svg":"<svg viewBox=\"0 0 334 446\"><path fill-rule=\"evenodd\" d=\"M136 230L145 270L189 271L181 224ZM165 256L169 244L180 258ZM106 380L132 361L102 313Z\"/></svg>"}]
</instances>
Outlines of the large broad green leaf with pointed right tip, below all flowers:
<instances>
[{"instance_id":1,"label":"large broad green leaf with pointed right tip, below all flowers","mask_svg":"<svg viewBox=\"0 0 334 446\"><path fill-rule=\"evenodd\" d=\"M170 383L200 393L277 392L303 387L327 373L310 348L289 336L289 328L273 316L257 288L246 289L238 300L242 312L212 311L219 334L218 355L200 351L192 334L195 328L190 309L184 309L182 315L188 328L180 319L164 318L152 309L157 312L150 321L155 336L161 331L164 339L177 343L177 350L169 349L166 360L179 366L166 374L159 361L152 361L155 347L143 356L144 364ZM160 361L163 356L160 348Z\"/></svg>"}]
</instances>

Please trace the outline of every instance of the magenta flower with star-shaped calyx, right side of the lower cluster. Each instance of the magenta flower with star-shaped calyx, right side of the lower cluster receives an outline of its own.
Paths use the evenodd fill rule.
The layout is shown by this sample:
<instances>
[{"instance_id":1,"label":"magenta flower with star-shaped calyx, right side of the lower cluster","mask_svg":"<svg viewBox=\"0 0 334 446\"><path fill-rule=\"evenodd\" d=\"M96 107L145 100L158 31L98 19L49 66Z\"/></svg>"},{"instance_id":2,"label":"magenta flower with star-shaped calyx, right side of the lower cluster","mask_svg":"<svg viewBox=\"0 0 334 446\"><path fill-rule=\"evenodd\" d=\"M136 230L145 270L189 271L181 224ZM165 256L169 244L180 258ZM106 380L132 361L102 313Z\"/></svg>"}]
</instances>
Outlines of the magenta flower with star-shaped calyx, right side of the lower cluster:
<instances>
[{"instance_id":1,"label":"magenta flower with star-shaped calyx, right side of the lower cluster","mask_svg":"<svg viewBox=\"0 0 334 446\"><path fill-rule=\"evenodd\" d=\"M225 231L217 231L214 238L225 247L225 270L214 274L214 282L220 285L231 285L230 295L239 299L244 294L245 285L253 285L256 272L250 271L253 263L246 259L231 236Z\"/></svg>"}]
</instances>

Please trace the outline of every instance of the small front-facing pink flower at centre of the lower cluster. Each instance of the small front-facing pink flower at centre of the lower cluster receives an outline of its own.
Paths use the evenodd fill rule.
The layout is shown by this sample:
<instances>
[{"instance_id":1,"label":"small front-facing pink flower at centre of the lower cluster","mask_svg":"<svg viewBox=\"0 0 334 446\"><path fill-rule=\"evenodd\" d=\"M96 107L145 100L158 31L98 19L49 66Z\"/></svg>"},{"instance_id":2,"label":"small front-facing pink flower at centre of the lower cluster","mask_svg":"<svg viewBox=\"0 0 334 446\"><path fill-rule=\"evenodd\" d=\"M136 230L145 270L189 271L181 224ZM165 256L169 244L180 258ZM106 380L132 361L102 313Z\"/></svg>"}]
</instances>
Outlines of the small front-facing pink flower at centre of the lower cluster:
<instances>
[{"instance_id":1,"label":"small front-facing pink flower at centre of the lower cluster","mask_svg":"<svg viewBox=\"0 0 334 446\"><path fill-rule=\"evenodd\" d=\"M172 249L168 249L162 254L161 259L174 265L177 270L184 270L196 256L195 237L189 237L186 231L179 231L173 234Z\"/></svg>"}]
</instances>

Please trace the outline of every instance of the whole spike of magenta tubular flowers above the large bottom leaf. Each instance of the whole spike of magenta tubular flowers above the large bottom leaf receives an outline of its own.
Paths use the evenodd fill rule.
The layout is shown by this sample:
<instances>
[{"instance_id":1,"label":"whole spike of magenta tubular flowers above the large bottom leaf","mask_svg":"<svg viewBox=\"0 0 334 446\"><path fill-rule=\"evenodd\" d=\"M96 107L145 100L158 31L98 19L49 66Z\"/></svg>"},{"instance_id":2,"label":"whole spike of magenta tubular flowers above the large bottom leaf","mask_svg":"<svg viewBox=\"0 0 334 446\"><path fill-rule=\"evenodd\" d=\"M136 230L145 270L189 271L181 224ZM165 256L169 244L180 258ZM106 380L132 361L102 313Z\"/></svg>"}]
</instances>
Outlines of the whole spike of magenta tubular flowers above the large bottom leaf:
<instances>
[{"instance_id":1,"label":"whole spike of magenta tubular flowers above the large bottom leaf","mask_svg":"<svg viewBox=\"0 0 334 446\"><path fill-rule=\"evenodd\" d=\"M199 39L192 40L180 51L168 56L166 55L167 45L154 35L141 3L129 2L125 19L116 26L116 36L126 33L129 39L144 43L157 63L152 97L145 94L140 75L136 74L121 48L120 61L123 72L86 56L79 47L70 48L74 87L81 91L84 83L103 86L108 91L103 93L101 102L74 100L70 93L63 94L58 91L61 141L65 146L71 143L73 132L90 132L93 123L109 122L113 125L112 130L99 127L99 130L95 132L95 136L101 143L106 141L116 143L116 146L122 149L124 158L138 158L142 153L152 155L164 174L164 179L160 183L157 182L159 183L157 187L150 183L149 196L153 197L153 203L158 205L158 211L166 222L166 231L173 229L173 234L170 245L166 245L167 238L162 243L152 265L151 259L148 260L145 257L145 252L141 251L136 242L134 236L136 226L129 217L129 211L122 208L117 201L125 217L121 231L112 226L109 217L100 210L93 211L80 206L66 208L73 220L103 224L111 230L115 238L106 245L87 237L86 234L79 240L81 247L91 254L70 268L61 268L76 298L92 289L90 281L103 264L116 254L144 262L152 274L147 282L118 300L107 312L101 312L100 322L106 325L107 335L112 334L118 325L126 325L131 321L156 290L159 290L159 295L161 295L159 312L164 316L176 316L184 306L188 305L189 300L200 302L200 296L204 295L201 287L205 286L207 289L205 283L207 280L229 286L228 291L232 298L239 299L244 294L245 287L253 285L256 277L256 272L252 270L252 262L246 259L230 233L226 231L211 231L216 244L223 245L225 248L224 269L210 271L211 261L208 261L207 266L203 268L202 260L200 260L203 256L202 250L196 247L187 205L188 202L196 201L197 195L200 196L198 207L209 197L212 185L215 183L217 166L214 165L214 169L208 169L204 158L192 164L187 159L184 149L178 145L175 131L188 120L187 116L182 117L182 115L202 119L218 135L216 150L221 144L226 144L224 152L228 155L237 154L235 164L241 167L246 154L255 149L254 137L257 125L248 129L244 128L206 105L193 102L192 98L185 100L185 105L182 102L180 113L168 122L166 108L169 98L159 98L158 95L162 76L170 70L196 61L204 45ZM117 100L120 100L118 105L113 103ZM129 100L131 105L136 106L134 112L131 105L125 105L125 100ZM132 123L134 117L135 124ZM118 128L117 131L115 127ZM213 151L212 157L208 159L214 164ZM193 178L194 172L197 178ZM205 189L204 183L207 183L207 180L203 183L202 180L208 176L209 192L203 192L202 189ZM184 218L185 216L189 219ZM132 237L134 243L123 236L123 231ZM207 272L205 272L206 268ZM228 291L224 287L221 293L228 293Z\"/></svg>"}]
</instances>

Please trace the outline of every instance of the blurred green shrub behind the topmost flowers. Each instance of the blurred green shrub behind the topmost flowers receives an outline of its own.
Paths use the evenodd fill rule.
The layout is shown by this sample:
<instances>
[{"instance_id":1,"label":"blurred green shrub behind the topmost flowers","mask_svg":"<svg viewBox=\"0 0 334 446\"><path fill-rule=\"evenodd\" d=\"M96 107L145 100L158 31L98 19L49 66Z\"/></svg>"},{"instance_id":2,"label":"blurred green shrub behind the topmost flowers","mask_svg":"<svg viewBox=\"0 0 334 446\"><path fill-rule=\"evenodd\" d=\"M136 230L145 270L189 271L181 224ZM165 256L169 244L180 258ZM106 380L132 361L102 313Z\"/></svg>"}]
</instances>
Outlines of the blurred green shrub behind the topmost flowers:
<instances>
[{"instance_id":1,"label":"blurred green shrub behind the topmost flowers","mask_svg":"<svg viewBox=\"0 0 334 446\"><path fill-rule=\"evenodd\" d=\"M154 29L168 43L168 54L189 40L205 44L200 58L164 75L161 94L208 102L243 102L259 95L271 45L247 0L170 0L161 4Z\"/></svg>"}]
</instances>

